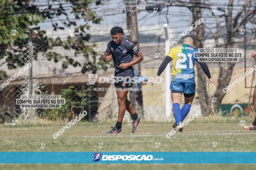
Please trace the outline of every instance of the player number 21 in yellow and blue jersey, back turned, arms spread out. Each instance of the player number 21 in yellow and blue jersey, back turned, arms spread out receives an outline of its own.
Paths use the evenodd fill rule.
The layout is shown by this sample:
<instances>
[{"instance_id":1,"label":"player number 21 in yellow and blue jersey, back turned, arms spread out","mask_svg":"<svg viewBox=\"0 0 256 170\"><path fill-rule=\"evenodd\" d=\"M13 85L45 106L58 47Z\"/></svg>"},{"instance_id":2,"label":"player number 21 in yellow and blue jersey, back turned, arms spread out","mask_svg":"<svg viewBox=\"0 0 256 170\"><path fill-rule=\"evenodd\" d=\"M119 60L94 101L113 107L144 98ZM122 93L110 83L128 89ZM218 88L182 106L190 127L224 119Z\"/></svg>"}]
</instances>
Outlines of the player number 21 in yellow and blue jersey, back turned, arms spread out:
<instances>
[{"instance_id":1,"label":"player number 21 in yellow and blue jersey, back turned, arms spread out","mask_svg":"<svg viewBox=\"0 0 256 170\"><path fill-rule=\"evenodd\" d=\"M172 81L170 85L171 96L173 101L173 115L176 120L176 123L173 124L173 127L177 127L179 131L183 130L181 122L185 119L189 113L191 104L195 97L195 70L194 65L195 61L198 62L197 58L194 58L194 52L198 52L194 46L194 39L191 36L185 36L183 39L182 45L178 45L170 49L166 58L161 63L155 79L163 72L167 64L173 60L172 65ZM209 68L205 62L198 62L209 81L214 85L218 85L212 78L209 71ZM153 85L154 83L152 83ZM182 98L182 93L184 93L185 104L180 109L180 101Z\"/></svg>"}]
</instances>

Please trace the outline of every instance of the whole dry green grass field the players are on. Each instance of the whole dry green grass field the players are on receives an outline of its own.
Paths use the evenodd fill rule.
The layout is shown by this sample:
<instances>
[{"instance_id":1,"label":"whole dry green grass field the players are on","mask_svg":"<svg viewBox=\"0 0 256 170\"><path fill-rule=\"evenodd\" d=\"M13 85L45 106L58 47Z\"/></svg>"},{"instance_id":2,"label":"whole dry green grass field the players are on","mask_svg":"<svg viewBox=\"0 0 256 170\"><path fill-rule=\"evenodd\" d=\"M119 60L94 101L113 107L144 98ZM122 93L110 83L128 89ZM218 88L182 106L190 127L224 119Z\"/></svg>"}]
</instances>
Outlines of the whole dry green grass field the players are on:
<instances>
[{"instance_id":1,"label":"whole dry green grass field the players are on","mask_svg":"<svg viewBox=\"0 0 256 170\"><path fill-rule=\"evenodd\" d=\"M193 120L169 139L171 123L142 122L135 134L132 125L123 124L122 132L105 135L114 122L79 122L54 139L65 123L0 125L0 151L256 151L256 132L243 130L239 120ZM249 123L246 120L246 123ZM155 143L160 142L159 148ZM217 142L212 147L212 142ZM44 149L40 149L45 143ZM104 143L98 148L98 143ZM254 168L253 168L254 167ZM252 164L3 164L0 169L255 169Z\"/></svg>"}]
</instances>

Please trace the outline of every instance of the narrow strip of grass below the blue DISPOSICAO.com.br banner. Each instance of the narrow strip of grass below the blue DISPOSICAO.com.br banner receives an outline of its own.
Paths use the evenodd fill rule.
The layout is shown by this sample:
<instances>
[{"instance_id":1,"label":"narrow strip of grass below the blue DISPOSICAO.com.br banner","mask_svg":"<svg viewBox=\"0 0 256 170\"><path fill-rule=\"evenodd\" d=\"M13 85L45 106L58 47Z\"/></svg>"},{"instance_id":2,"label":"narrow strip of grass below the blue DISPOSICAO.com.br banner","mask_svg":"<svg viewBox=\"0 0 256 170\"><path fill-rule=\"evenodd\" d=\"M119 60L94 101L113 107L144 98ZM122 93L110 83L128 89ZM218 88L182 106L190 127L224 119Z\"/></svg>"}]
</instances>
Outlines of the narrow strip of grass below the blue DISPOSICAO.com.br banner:
<instances>
[{"instance_id":1,"label":"narrow strip of grass below the blue DISPOSICAO.com.br banner","mask_svg":"<svg viewBox=\"0 0 256 170\"><path fill-rule=\"evenodd\" d=\"M251 170L255 164L9 164L4 170Z\"/></svg>"}]
</instances>

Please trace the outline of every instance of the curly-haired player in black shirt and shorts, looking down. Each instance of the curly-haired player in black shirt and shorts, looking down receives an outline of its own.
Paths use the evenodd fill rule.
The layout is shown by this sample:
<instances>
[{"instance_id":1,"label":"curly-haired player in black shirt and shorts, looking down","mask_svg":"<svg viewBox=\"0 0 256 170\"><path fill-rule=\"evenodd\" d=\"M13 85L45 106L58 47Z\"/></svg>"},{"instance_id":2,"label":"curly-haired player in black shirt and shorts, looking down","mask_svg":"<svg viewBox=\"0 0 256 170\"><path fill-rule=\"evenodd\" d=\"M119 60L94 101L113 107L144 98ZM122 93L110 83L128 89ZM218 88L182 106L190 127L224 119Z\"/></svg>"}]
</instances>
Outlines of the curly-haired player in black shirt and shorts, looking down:
<instances>
[{"instance_id":1,"label":"curly-haired player in black shirt and shorts, looking down","mask_svg":"<svg viewBox=\"0 0 256 170\"><path fill-rule=\"evenodd\" d=\"M114 61L115 77L134 77L134 70L132 65L137 64L143 60L143 55L139 51L137 45L123 38L124 31L121 27L113 27L111 29L111 37L113 41L110 41L107 45L107 50L103 55L103 61L109 62L111 59ZM134 60L133 55L137 56ZM127 79L127 81L130 81ZM118 78L116 78L118 80ZM115 82L117 88L129 88L132 87L131 82L119 81ZM132 133L136 131L138 125L142 119L140 115L136 113L132 104L127 99L128 90L116 91L118 100L118 120L115 127L107 134L117 134L122 130L122 121L125 115L125 109L131 114L133 118Z\"/></svg>"}]
</instances>

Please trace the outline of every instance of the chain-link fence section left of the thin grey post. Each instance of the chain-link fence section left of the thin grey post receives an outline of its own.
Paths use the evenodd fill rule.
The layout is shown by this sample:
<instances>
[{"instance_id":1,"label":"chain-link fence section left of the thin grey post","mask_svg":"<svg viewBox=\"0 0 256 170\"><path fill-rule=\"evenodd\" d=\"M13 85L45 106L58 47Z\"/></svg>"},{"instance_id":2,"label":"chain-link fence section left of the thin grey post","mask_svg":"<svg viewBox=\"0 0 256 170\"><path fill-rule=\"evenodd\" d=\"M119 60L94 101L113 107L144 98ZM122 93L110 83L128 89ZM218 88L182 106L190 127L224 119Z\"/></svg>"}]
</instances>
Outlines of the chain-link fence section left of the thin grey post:
<instances>
[{"instance_id":1,"label":"chain-link fence section left of the thin grey post","mask_svg":"<svg viewBox=\"0 0 256 170\"><path fill-rule=\"evenodd\" d=\"M7 53L7 54L6 54ZM11 54L17 54L18 67L8 64L1 64L1 104L0 110L2 119L4 121L10 121L11 118L20 115L21 119L26 120L28 112L26 109L21 109L19 105L16 105L16 98L19 98L22 94L29 94L29 45L15 46L12 49L0 48L1 56L4 56L2 60L5 60L7 56L13 57ZM33 52L35 57L35 52ZM33 76L33 85L36 87L36 75Z\"/></svg>"}]
</instances>

